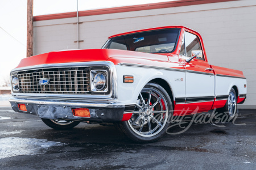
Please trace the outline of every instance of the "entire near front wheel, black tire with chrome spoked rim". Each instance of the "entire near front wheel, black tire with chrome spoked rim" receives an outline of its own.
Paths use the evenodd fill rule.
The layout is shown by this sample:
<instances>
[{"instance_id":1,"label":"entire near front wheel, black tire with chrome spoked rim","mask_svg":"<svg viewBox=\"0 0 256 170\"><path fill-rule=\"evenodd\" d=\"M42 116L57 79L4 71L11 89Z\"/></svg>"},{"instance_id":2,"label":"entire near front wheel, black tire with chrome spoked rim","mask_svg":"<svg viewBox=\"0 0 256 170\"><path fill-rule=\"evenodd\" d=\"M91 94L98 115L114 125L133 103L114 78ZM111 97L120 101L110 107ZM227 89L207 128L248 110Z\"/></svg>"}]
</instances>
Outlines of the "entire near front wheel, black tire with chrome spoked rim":
<instances>
[{"instance_id":1,"label":"entire near front wheel, black tire with chrome spoked rim","mask_svg":"<svg viewBox=\"0 0 256 170\"><path fill-rule=\"evenodd\" d=\"M147 83L138 96L130 120L118 122L116 126L135 142L155 142L166 134L172 110L172 102L166 90L159 84Z\"/></svg>"}]
</instances>

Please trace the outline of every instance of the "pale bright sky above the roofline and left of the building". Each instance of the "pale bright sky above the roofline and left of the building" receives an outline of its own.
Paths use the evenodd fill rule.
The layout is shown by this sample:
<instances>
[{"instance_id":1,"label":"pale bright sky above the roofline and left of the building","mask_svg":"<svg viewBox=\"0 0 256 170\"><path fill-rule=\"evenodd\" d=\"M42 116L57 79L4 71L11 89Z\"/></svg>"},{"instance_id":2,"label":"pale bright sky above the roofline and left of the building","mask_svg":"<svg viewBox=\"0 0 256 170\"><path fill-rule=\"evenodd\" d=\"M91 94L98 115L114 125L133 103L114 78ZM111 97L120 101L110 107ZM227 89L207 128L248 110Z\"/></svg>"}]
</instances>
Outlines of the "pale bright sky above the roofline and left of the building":
<instances>
[{"instance_id":1,"label":"pale bright sky above the roofline and left of the building","mask_svg":"<svg viewBox=\"0 0 256 170\"><path fill-rule=\"evenodd\" d=\"M175 0L79 0L79 11ZM34 0L34 16L76 11L77 0ZM0 0L0 86L26 57L27 0Z\"/></svg>"}]
</instances>

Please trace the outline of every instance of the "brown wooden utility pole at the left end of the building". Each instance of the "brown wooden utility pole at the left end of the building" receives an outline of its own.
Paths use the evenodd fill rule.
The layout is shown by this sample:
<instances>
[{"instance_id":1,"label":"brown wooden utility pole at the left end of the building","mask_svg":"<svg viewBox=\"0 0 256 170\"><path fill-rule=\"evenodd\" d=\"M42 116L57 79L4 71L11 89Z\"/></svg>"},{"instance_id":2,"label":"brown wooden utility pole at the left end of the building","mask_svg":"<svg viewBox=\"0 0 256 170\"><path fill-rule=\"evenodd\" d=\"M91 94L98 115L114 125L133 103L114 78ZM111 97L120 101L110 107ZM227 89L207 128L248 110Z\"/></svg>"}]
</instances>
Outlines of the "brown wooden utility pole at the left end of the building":
<instances>
[{"instance_id":1,"label":"brown wooden utility pole at the left end of the building","mask_svg":"<svg viewBox=\"0 0 256 170\"><path fill-rule=\"evenodd\" d=\"M33 0L27 0L27 57L33 56Z\"/></svg>"}]
</instances>

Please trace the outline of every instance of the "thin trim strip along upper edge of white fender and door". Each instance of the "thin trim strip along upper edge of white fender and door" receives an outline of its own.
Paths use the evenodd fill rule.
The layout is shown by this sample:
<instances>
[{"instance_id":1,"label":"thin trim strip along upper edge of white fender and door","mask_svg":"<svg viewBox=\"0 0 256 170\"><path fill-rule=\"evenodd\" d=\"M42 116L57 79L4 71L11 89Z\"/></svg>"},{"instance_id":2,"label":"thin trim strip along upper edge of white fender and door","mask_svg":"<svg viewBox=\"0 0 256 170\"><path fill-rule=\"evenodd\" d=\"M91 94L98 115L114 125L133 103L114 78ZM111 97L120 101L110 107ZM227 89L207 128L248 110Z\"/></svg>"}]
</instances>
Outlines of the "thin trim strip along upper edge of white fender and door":
<instances>
[{"instance_id":1,"label":"thin trim strip along upper edge of white fender and door","mask_svg":"<svg viewBox=\"0 0 256 170\"><path fill-rule=\"evenodd\" d=\"M185 69L174 69L174 68L167 68L167 67L157 67L157 66L149 66L149 65L139 65L134 63L118 63L121 66L130 66L130 67L144 67L148 69L160 69L160 70L170 70L170 71L179 71L179 72L189 72L195 74L205 74L205 75L213 75L213 73L205 73L201 71L193 71L193 70L185 70Z\"/></svg>"}]
</instances>

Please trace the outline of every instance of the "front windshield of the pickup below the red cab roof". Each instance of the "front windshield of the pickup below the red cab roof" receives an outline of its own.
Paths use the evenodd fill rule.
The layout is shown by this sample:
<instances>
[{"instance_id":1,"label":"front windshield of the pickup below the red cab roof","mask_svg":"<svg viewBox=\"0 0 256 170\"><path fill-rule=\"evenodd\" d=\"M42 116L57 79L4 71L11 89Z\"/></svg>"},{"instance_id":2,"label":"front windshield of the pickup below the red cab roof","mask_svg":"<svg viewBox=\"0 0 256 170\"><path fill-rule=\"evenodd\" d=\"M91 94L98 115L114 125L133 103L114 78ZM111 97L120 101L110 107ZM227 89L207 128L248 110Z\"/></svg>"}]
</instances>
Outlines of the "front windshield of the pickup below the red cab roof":
<instances>
[{"instance_id":1,"label":"front windshield of the pickup below the red cab roof","mask_svg":"<svg viewBox=\"0 0 256 170\"><path fill-rule=\"evenodd\" d=\"M130 50L144 53L171 53L175 50L180 28L161 29L114 37L105 49Z\"/></svg>"}]
</instances>

